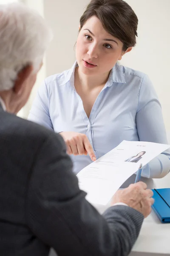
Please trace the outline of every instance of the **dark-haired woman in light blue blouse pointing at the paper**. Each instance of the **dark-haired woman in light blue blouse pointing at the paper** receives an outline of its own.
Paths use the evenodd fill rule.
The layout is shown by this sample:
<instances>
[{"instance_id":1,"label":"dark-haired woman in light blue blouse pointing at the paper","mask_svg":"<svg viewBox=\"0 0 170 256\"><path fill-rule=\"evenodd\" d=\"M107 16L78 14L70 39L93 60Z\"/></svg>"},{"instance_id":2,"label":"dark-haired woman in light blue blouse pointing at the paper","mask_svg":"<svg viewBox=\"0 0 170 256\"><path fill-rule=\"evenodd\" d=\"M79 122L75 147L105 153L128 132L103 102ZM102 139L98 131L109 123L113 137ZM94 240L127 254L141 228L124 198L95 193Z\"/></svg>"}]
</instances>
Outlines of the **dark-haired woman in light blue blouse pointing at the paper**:
<instances>
[{"instance_id":1,"label":"dark-haired woman in light blue blouse pointing at the paper","mask_svg":"<svg viewBox=\"0 0 170 256\"><path fill-rule=\"evenodd\" d=\"M92 0L80 18L76 63L45 79L34 101L28 118L61 134L76 174L122 140L167 144L150 79L118 63L135 46L137 25L123 0ZM143 176L166 175L169 156L152 160Z\"/></svg>"}]
</instances>

